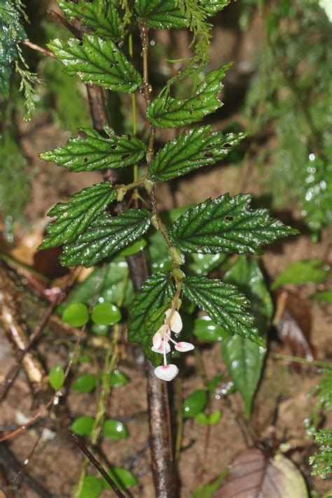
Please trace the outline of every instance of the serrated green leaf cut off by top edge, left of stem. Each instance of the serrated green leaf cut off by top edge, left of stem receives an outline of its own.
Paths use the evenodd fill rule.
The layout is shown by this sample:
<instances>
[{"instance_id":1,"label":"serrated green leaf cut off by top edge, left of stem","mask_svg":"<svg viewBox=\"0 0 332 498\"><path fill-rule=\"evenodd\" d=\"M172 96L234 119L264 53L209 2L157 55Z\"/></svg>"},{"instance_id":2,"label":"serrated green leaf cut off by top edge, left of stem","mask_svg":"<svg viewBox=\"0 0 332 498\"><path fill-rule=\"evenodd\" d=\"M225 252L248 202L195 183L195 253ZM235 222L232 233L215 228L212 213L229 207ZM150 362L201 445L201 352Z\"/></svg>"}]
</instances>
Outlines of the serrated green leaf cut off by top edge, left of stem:
<instances>
[{"instance_id":1,"label":"serrated green leaf cut off by top edge, left of stem","mask_svg":"<svg viewBox=\"0 0 332 498\"><path fill-rule=\"evenodd\" d=\"M79 19L84 26L91 27L96 34L114 42L123 37L120 15L109 0L57 0L60 8L70 20Z\"/></svg>"}]
</instances>

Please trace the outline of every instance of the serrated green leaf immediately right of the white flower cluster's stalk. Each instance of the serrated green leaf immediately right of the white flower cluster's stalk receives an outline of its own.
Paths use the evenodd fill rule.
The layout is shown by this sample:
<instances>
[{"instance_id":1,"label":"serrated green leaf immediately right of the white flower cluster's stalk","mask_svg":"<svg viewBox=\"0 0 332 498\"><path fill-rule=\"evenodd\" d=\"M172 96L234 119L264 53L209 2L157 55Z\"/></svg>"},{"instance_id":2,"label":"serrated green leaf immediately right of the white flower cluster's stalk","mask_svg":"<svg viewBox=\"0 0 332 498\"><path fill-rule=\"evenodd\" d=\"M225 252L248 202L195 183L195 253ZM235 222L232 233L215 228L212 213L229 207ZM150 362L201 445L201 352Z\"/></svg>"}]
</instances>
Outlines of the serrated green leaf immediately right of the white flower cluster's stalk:
<instances>
[{"instance_id":1,"label":"serrated green leaf immediately right of the white flower cluster's stalk","mask_svg":"<svg viewBox=\"0 0 332 498\"><path fill-rule=\"evenodd\" d=\"M188 299L231 336L236 333L266 347L253 326L254 318L246 310L250 305L249 300L237 287L217 279L186 277L183 280L183 291Z\"/></svg>"}]
</instances>

